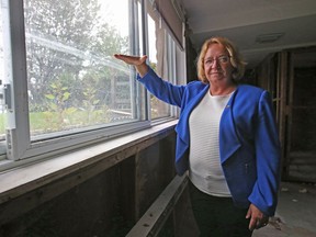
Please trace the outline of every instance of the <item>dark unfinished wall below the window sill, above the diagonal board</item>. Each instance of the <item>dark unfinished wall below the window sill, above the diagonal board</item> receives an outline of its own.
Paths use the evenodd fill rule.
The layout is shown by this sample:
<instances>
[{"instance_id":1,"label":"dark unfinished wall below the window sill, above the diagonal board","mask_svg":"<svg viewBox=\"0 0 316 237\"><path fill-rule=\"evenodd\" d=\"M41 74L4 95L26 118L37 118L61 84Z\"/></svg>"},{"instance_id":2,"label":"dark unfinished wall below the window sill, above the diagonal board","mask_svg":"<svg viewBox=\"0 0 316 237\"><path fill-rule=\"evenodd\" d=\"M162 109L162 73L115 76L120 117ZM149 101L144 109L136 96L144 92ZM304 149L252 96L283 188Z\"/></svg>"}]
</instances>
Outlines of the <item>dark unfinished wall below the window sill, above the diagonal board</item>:
<instances>
[{"instance_id":1,"label":"dark unfinished wall below the window sill, above the diagonal board","mask_svg":"<svg viewBox=\"0 0 316 237\"><path fill-rule=\"evenodd\" d=\"M173 160L174 133L48 202L36 190L38 206L1 223L0 236L125 236L173 178Z\"/></svg>"}]
</instances>

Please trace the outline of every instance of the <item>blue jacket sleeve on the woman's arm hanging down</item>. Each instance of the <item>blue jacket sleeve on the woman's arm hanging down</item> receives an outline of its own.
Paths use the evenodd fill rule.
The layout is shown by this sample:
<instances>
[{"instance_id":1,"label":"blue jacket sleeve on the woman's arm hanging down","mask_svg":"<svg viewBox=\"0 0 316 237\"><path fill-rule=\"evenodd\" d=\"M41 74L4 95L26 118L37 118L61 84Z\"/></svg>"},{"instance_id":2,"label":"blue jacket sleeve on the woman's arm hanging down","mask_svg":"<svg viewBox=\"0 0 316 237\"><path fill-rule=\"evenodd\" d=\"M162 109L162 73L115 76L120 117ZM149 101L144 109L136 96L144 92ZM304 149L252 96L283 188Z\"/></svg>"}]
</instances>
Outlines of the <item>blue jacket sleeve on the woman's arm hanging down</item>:
<instances>
[{"instance_id":1,"label":"blue jacket sleeve on the woman's arm hanging down","mask_svg":"<svg viewBox=\"0 0 316 237\"><path fill-rule=\"evenodd\" d=\"M268 216L273 216L280 183L280 142L270 94L263 91L258 106L255 134L257 181L249 201Z\"/></svg>"}]
</instances>

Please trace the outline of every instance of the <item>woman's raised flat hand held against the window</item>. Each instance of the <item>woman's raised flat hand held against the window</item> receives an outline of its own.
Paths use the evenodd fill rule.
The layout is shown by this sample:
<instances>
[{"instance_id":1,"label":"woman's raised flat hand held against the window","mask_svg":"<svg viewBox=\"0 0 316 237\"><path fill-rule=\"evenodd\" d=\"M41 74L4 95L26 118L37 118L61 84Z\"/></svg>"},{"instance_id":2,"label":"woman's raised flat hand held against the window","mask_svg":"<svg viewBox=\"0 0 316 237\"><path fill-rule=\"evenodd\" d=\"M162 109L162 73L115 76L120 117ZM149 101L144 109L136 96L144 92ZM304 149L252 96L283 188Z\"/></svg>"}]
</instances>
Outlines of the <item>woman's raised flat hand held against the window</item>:
<instances>
[{"instance_id":1,"label":"woman's raised flat hand held against the window","mask_svg":"<svg viewBox=\"0 0 316 237\"><path fill-rule=\"evenodd\" d=\"M140 77L144 77L148 71L148 66L146 64L147 56L131 56L131 55L122 55L122 54L114 54L114 57L123 60L125 64L134 66Z\"/></svg>"}]
</instances>

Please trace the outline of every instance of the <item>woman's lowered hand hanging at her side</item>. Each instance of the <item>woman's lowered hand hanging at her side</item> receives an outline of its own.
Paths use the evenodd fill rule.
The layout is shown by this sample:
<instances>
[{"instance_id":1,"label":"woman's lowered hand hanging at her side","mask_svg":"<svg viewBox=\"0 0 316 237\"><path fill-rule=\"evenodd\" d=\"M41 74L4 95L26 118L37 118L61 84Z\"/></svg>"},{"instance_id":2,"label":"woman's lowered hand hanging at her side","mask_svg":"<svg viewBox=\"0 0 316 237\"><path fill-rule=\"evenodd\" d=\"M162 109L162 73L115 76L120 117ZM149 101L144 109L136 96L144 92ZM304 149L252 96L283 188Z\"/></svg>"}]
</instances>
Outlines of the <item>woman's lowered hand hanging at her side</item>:
<instances>
[{"instance_id":1,"label":"woman's lowered hand hanging at her side","mask_svg":"<svg viewBox=\"0 0 316 237\"><path fill-rule=\"evenodd\" d=\"M252 232L255 228L261 228L268 225L269 216L266 216L256 205L250 204L246 218L250 218L249 229Z\"/></svg>"}]
</instances>

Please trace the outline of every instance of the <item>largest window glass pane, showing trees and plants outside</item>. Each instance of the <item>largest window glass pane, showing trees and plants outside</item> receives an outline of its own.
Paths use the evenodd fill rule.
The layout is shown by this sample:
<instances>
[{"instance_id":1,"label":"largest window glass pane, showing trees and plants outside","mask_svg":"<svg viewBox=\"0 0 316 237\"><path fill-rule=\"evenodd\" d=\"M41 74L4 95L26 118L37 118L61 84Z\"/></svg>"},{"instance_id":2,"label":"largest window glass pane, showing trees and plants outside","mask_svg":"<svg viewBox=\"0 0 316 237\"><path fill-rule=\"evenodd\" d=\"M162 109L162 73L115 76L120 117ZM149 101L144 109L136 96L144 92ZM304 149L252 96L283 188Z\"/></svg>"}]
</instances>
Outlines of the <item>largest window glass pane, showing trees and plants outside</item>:
<instances>
[{"instance_id":1,"label":"largest window glass pane, showing trees and plants outside","mask_svg":"<svg viewBox=\"0 0 316 237\"><path fill-rule=\"evenodd\" d=\"M134 72L113 57L133 47L131 2L24 1L34 138L144 119Z\"/></svg>"}]
</instances>

